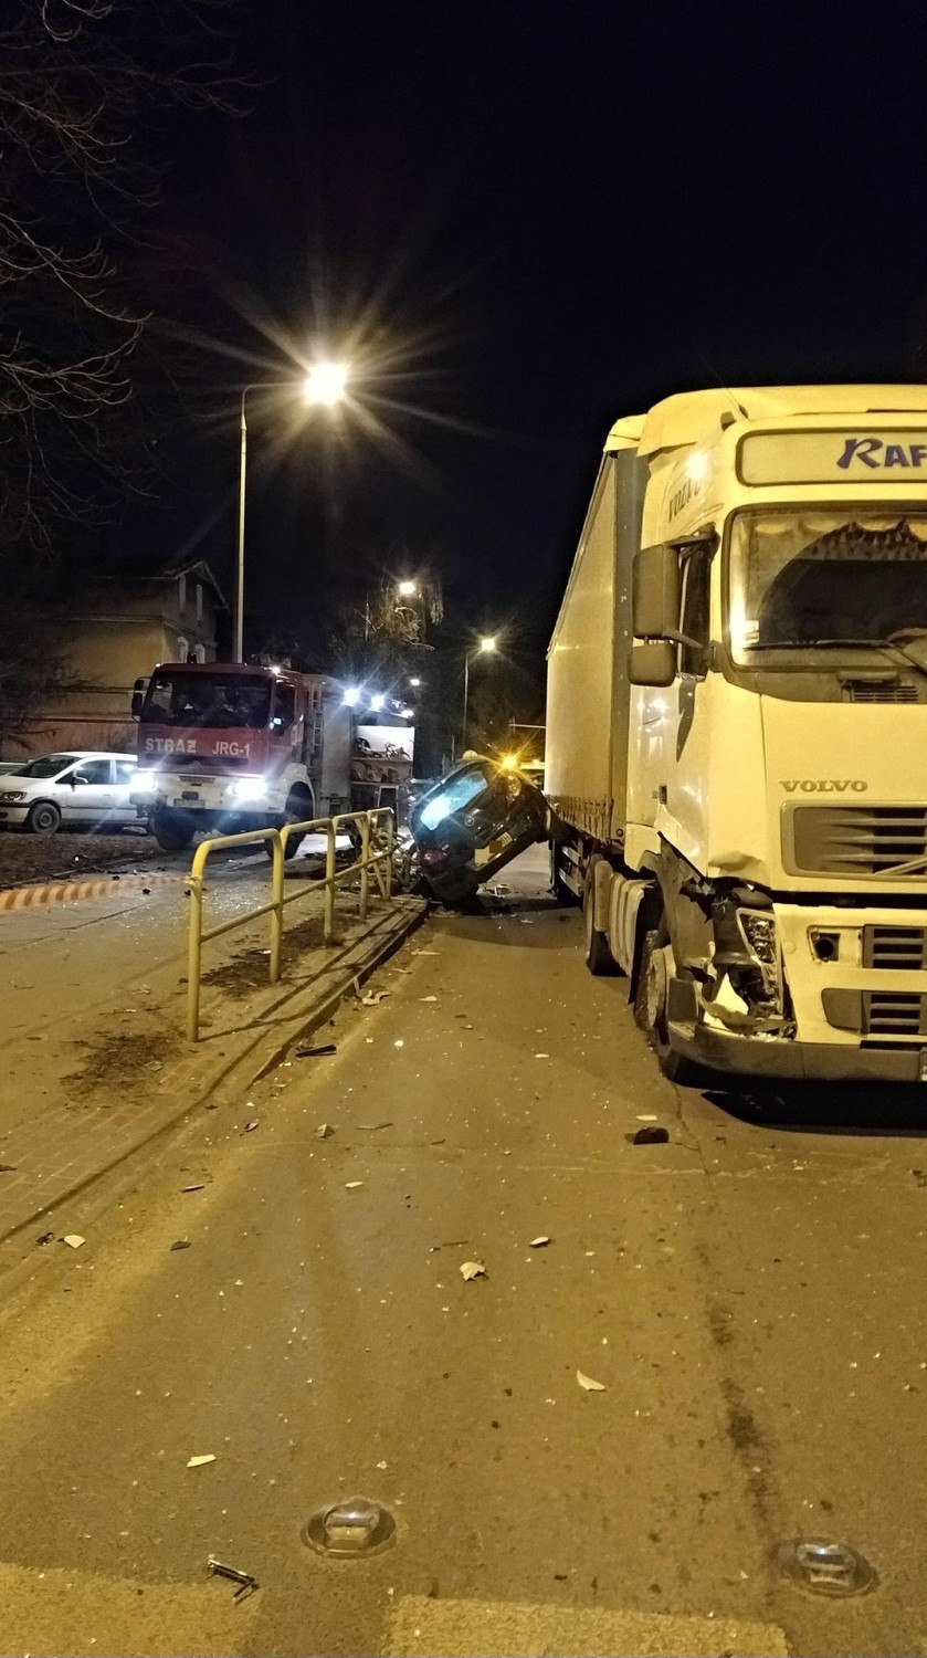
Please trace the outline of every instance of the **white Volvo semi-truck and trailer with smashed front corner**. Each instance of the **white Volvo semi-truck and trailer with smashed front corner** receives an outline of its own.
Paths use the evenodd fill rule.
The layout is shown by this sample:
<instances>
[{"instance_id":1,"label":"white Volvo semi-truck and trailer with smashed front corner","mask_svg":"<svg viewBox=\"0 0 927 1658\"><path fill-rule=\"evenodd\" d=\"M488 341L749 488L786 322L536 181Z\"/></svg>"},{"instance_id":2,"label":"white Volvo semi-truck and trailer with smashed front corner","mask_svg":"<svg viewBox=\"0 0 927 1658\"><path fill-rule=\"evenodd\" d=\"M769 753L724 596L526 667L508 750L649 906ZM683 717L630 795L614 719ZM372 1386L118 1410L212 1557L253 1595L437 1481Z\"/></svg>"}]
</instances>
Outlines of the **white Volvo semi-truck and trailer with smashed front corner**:
<instances>
[{"instance_id":1,"label":"white Volvo semi-truck and trailer with smashed front corner","mask_svg":"<svg viewBox=\"0 0 927 1658\"><path fill-rule=\"evenodd\" d=\"M547 794L587 963L667 1076L927 1081L927 386L612 428Z\"/></svg>"}]
</instances>

